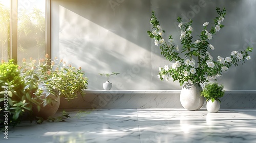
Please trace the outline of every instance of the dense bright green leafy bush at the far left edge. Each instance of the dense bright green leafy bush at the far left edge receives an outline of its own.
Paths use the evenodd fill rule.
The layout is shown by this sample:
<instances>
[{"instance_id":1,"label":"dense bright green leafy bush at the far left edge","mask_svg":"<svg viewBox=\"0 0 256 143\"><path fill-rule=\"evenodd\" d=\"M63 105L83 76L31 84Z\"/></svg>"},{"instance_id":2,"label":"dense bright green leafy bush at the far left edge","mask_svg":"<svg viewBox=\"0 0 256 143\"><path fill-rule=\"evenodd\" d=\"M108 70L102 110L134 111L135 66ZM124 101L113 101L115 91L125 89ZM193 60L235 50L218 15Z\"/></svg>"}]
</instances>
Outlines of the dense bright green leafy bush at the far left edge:
<instances>
[{"instance_id":1,"label":"dense bright green leafy bush at the far left edge","mask_svg":"<svg viewBox=\"0 0 256 143\"><path fill-rule=\"evenodd\" d=\"M32 111L32 105L38 104L31 98L28 90L24 90L27 82L20 76L18 65L9 60L0 64L0 111L8 112L8 125L16 126L20 123L21 117ZM3 113L1 112L1 113ZM1 116L0 125L4 124Z\"/></svg>"}]
</instances>

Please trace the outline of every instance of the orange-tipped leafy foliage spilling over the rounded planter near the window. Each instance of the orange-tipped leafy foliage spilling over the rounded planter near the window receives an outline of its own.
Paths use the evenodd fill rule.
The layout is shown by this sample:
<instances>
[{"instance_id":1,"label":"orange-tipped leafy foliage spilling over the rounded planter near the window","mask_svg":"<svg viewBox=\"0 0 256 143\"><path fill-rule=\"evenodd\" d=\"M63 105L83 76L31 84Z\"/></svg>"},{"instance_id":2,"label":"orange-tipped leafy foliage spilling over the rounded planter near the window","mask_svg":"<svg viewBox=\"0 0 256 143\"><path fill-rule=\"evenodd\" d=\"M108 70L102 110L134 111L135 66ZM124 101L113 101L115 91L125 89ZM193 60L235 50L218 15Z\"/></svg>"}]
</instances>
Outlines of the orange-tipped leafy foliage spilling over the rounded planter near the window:
<instances>
[{"instance_id":1,"label":"orange-tipped leafy foliage spilling over the rounded planter near the window","mask_svg":"<svg viewBox=\"0 0 256 143\"><path fill-rule=\"evenodd\" d=\"M84 71L82 71L81 67L75 68L67 65L65 61L58 61L57 58L50 59L48 54L39 61L30 58L29 63L27 63L26 59L23 59L21 70L25 79L29 78L37 83L37 85L26 86L37 89L34 93L35 96L46 94L46 98L43 101L44 105L52 102L51 99L47 98L50 94L69 100L77 98L78 93L83 96L85 94L83 90L87 89L88 78L84 77ZM40 84L44 87L44 90L38 88ZM55 89L59 92L56 93Z\"/></svg>"}]
</instances>

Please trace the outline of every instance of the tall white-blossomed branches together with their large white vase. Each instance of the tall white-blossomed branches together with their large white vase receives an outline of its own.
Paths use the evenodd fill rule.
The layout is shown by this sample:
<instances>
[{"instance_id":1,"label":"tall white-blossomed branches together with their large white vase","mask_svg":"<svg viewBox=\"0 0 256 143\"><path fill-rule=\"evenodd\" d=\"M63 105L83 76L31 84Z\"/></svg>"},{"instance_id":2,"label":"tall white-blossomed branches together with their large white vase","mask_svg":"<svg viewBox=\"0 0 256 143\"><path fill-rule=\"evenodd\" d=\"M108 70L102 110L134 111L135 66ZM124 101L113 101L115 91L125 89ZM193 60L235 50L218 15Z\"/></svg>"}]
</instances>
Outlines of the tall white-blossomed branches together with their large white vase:
<instances>
[{"instance_id":1,"label":"tall white-blossomed branches together with their large white vase","mask_svg":"<svg viewBox=\"0 0 256 143\"><path fill-rule=\"evenodd\" d=\"M181 105L188 110L198 110L203 106L204 98L200 96L202 87L200 83L206 83L209 79L216 79L221 76L232 65L237 66L239 62L245 62L251 57L252 47L247 47L243 51L233 51L230 56L223 58L218 56L216 60L210 52L214 51L214 45L209 41L212 36L217 34L223 27L222 22L226 15L226 10L216 8L217 16L210 24L208 21L201 23L202 31L198 38L193 38L192 20L189 22L182 21L181 17L177 18L180 29L181 48L174 42L172 35L168 40L164 39L165 31L159 24L155 12L152 12L150 23L152 30L147 31L148 36L153 39L156 46L160 46L161 55L163 55L170 65L159 67L160 80L179 81L182 86L180 93ZM180 50L181 49L181 50Z\"/></svg>"}]
</instances>

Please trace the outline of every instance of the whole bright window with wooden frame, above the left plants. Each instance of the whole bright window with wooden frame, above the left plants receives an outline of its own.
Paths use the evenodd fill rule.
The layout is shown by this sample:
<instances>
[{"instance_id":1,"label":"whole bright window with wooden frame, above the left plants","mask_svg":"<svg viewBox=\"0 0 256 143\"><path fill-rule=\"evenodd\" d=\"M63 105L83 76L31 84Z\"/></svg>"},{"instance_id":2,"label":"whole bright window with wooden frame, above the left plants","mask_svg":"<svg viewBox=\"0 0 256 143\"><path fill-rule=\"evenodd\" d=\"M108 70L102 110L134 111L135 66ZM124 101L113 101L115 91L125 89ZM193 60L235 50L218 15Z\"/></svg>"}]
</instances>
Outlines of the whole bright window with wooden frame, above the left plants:
<instances>
[{"instance_id":1,"label":"whole bright window with wooden frame, above the left plants","mask_svg":"<svg viewBox=\"0 0 256 143\"><path fill-rule=\"evenodd\" d=\"M48 5L50 0L0 0L1 15L6 15L0 19L2 60L12 58L19 63L23 58L50 55Z\"/></svg>"}]
</instances>

